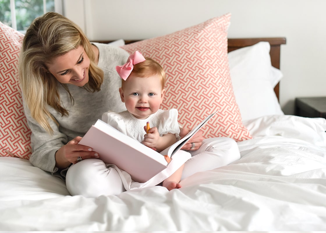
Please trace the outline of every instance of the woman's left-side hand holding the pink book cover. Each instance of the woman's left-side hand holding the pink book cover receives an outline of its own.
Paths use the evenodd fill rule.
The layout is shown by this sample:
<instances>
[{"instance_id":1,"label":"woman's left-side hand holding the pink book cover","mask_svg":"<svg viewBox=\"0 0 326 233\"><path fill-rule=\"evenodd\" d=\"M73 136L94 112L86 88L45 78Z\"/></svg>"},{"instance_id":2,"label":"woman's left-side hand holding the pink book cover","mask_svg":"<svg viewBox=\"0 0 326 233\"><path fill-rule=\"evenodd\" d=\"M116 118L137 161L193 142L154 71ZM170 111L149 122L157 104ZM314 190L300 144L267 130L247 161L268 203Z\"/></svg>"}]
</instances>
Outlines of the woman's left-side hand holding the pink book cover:
<instances>
[{"instance_id":1,"label":"woman's left-side hand holding the pink book cover","mask_svg":"<svg viewBox=\"0 0 326 233\"><path fill-rule=\"evenodd\" d=\"M77 163L77 157L82 159L98 158L98 153L92 151L92 148L78 145L82 137L75 137L66 145L62 146L55 153L55 162L58 168L66 168L71 163Z\"/></svg>"}]
</instances>

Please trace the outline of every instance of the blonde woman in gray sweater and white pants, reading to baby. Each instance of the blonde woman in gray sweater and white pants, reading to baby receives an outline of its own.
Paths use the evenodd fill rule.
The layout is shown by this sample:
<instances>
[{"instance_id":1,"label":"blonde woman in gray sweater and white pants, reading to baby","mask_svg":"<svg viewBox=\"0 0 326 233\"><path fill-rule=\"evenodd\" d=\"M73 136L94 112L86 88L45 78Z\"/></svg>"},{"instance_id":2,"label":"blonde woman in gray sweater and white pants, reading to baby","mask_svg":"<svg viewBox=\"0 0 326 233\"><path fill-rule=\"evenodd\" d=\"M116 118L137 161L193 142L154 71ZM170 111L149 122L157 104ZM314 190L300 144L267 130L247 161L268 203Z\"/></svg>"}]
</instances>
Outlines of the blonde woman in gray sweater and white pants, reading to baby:
<instances>
[{"instance_id":1,"label":"blonde woman in gray sweater and white pants, reading to baby","mask_svg":"<svg viewBox=\"0 0 326 233\"><path fill-rule=\"evenodd\" d=\"M115 67L128 56L121 48L91 44L77 24L54 12L35 19L26 31L19 79L32 131L30 162L66 179L71 194L98 196L125 190L118 172L78 142L108 109L126 110ZM180 135L187 132L182 129ZM200 147L203 138L195 136L185 149L191 143L194 149ZM77 165L78 160L83 161ZM66 178L71 164L76 166Z\"/></svg>"}]
</instances>

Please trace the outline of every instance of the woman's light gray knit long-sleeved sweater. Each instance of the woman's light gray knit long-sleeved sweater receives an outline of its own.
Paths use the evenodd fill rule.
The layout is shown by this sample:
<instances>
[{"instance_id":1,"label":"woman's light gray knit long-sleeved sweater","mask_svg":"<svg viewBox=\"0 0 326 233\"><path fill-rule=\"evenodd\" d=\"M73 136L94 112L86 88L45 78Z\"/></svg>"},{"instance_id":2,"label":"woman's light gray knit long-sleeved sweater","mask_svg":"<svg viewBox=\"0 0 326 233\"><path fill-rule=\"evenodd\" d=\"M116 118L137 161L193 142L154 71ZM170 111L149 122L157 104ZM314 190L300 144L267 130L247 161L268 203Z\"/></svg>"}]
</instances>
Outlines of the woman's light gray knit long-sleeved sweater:
<instances>
[{"instance_id":1,"label":"woman's light gray knit long-sleeved sweater","mask_svg":"<svg viewBox=\"0 0 326 233\"><path fill-rule=\"evenodd\" d=\"M50 108L50 113L59 123L59 127L50 122L54 131L53 134L46 132L31 117L29 110L24 105L28 125L32 131L32 155L30 162L42 170L51 172L54 176L65 179L67 169L59 170L55 166L55 152L61 146L76 136L83 136L87 130L101 119L104 112L112 110L121 112L126 110L124 103L121 102L119 87L121 79L115 67L126 62L129 54L118 47L106 44L94 43L99 50L98 66L104 71L104 81L101 90L98 92L88 92L83 88L68 84L70 93L74 99L70 101L67 91L59 85L60 98L69 116L61 116L60 113Z\"/></svg>"}]
</instances>

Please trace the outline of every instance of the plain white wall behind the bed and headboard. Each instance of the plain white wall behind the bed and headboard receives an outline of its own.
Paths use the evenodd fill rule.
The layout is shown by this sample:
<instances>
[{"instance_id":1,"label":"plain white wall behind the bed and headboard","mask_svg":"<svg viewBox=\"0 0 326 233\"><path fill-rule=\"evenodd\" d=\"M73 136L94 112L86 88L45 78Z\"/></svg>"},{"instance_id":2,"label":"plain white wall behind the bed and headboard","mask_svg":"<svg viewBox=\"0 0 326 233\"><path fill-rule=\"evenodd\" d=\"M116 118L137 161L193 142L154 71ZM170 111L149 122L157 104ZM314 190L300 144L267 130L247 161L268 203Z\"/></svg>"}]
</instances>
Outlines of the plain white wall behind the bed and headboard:
<instances>
[{"instance_id":1,"label":"plain white wall behind the bed and headboard","mask_svg":"<svg viewBox=\"0 0 326 233\"><path fill-rule=\"evenodd\" d=\"M229 38L284 36L280 104L286 114L294 113L296 97L326 95L325 9L324 0L66 0L65 5L66 16L91 40L161 36L227 12Z\"/></svg>"}]
</instances>

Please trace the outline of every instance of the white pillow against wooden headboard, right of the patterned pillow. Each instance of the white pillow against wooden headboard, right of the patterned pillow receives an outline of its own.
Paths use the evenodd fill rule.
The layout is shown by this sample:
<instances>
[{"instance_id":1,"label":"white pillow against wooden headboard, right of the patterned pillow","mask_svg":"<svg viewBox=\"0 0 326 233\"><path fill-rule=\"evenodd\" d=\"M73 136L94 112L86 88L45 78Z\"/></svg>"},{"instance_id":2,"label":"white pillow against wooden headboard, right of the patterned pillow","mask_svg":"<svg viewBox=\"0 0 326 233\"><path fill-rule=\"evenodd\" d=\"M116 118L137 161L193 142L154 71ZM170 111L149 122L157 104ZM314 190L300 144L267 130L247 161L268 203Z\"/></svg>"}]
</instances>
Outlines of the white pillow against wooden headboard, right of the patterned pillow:
<instances>
[{"instance_id":1,"label":"white pillow against wooden headboard, right of the patterned pillow","mask_svg":"<svg viewBox=\"0 0 326 233\"><path fill-rule=\"evenodd\" d=\"M234 50L228 54L230 75L242 120L266 115L284 115L274 93L283 74L271 65L270 44Z\"/></svg>"}]
</instances>

